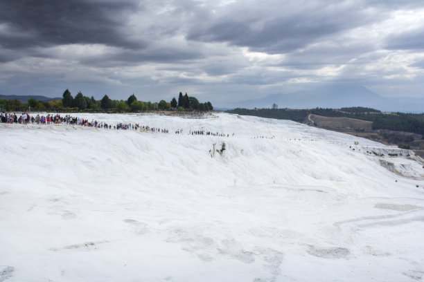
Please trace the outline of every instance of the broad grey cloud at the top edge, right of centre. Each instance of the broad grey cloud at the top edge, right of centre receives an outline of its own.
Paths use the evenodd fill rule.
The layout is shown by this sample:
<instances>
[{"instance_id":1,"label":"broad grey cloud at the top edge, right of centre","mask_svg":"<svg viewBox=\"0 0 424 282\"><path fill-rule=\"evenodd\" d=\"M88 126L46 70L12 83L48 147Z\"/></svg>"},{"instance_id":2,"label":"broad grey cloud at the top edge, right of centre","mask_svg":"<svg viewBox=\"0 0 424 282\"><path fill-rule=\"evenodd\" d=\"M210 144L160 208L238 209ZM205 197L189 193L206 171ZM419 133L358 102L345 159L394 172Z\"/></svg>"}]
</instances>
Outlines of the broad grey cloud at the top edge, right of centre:
<instances>
[{"instance_id":1,"label":"broad grey cloud at the top edge, right of centre","mask_svg":"<svg viewBox=\"0 0 424 282\"><path fill-rule=\"evenodd\" d=\"M230 4L231 12L218 11L222 15L211 15L206 23L193 25L187 38L228 42L266 53L287 53L381 17L328 1L305 1L299 6L287 10L290 5L281 1L266 1L251 7Z\"/></svg>"}]
</instances>

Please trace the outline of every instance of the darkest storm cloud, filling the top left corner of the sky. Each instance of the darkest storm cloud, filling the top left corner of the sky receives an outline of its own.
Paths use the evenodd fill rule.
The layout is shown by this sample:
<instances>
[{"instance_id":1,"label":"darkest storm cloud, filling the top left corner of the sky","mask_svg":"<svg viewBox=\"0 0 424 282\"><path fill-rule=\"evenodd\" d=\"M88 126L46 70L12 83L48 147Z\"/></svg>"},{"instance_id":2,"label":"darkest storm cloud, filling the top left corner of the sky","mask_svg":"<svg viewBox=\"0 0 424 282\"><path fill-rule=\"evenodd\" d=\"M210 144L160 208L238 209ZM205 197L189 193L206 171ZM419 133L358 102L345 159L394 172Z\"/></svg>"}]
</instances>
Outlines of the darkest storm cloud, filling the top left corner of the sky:
<instances>
[{"instance_id":1,"label":"darkest storm cloud, filling the top left corner of the sky","mask_svg":"<svg viewBox=\"0 0 424 282\"><path fill-rule=\"evenodd\" d=\"M21 49L55 44L106 44L134 48L140 42L122 35L119 26L136 6L128 1L0 1L0 42Z\"/></svg>"}]
</instances>

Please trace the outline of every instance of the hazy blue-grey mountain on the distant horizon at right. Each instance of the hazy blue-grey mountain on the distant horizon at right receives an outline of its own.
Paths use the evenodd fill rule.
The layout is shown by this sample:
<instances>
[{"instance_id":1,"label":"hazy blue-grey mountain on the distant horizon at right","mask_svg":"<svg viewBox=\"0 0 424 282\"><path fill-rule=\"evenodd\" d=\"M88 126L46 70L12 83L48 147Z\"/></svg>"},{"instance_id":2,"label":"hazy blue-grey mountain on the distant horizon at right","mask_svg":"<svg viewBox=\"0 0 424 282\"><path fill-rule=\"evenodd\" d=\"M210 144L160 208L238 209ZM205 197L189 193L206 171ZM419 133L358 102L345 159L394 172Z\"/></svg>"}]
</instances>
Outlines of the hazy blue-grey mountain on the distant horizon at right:
<instances>
[{"instance_id":1,"label":"hazy blue-grey mountain on the distant horizon at right","mask_svg":"<svg viewBox=\"0 0 424 282\"><path fill-rule=\"evenodd\" d=\"M309 91L290 94L268 95L258 100L245 100L231 106L242 108L339 109L348 106L364 106L380 111L420 112L424 111L424 100L420 98L382 97L364 86L328 85Z\"/></svg>"}]
</instances>

